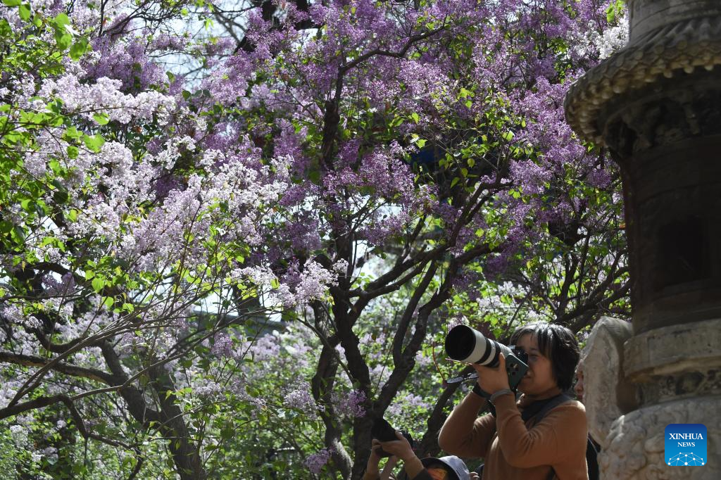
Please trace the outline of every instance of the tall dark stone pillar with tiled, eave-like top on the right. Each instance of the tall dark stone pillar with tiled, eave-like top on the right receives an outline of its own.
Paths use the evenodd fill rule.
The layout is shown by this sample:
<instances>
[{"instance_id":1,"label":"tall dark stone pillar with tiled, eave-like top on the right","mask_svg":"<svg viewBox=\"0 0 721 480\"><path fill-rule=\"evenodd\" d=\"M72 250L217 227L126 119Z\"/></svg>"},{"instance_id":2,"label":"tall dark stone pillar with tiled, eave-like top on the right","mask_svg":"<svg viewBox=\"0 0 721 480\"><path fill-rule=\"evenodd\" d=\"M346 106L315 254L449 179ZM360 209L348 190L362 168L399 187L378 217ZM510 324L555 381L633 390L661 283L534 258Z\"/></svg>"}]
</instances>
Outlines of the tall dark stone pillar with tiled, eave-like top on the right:
<instances>
[{"instance_id":1,"label":"tall dark stone pillar with tiled, eave-like top on the right","mask_svg":"<svg viewBox=\"0 0 721 480\"><path fill-rule=\"evenodd\" d=\"M721 1L628 0L626 48L567 94L572 128L621 166L633 336L606 479L721 478ZM589 375L590 373L587 373ZM665 464L670 423L702 423L708 463Z\"/></svg>"}]
</instances>

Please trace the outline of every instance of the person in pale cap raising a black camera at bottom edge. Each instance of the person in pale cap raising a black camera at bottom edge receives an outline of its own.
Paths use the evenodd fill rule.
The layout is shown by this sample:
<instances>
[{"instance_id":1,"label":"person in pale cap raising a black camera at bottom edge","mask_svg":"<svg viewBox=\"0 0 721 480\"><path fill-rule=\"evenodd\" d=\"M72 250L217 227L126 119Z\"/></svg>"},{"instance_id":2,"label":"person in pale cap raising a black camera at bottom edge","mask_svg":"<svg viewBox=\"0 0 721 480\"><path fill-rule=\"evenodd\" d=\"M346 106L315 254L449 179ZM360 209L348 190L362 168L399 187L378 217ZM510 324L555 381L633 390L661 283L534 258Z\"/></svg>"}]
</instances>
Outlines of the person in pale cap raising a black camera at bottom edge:
<instances>
[{"instance_id":1,"label":"person in pale cap raising a black camera at bottom edge","mask_svg":"<svg viewBox=\"0 0 721 480\"><path fill-rule=\"evenodd\" d=\"M371 444L371 457L368 458L366 466L366 474L363 480L387 480L394 479L391 473L392 468L396 465L398 459L403 461L404 470L411 480L478 480L477 474L471 474L468 467L460 458L455 455L435 458L426 457L418 458L408 440L396 432L398 440L390 442L380 442L373 439ZM377 450L383 449L392 456L388 459L388 463L382 472L378 471L381 461Z\"/></svg>"}]
</instances>

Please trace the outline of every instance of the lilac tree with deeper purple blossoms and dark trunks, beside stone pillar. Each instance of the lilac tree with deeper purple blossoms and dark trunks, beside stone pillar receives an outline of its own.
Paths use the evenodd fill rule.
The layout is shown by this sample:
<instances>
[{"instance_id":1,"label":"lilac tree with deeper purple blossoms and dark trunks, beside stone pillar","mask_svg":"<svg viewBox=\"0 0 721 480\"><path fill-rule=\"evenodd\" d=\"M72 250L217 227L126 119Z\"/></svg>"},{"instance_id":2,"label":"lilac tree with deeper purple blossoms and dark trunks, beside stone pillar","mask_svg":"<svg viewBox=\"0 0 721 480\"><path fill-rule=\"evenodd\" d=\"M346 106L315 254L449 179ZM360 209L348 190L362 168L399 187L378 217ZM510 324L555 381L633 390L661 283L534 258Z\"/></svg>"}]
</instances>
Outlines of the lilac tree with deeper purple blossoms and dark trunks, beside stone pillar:
<instances>
[{"instance_id":1,"label":"lilac tree with deeper purple blossoms and dark trunks, beside stone pillar","mask_svg":"<svg viewBox=\"0 0 721 480\"><path fill-rule=\"evenodd\" d=\"M554 302L551 319L575 329L627 294L614 172L560 108L565 84L596 61L589 32L601 35L607 4L279 5L251 15L208 90L267 155L293 159L265 262L291 276L308 258L348 265L332 302L312 304L324 348L311 386L327 403L342 367L366 398L353 455L334 409L321 414L322 458L357 477L369 426L412 371L433 312L474 274L531 285L534 303ZM317 29L297 28L307 22ZM402 288L392 370L374 387L359 322Z\"/></svg>"}]
</instances>

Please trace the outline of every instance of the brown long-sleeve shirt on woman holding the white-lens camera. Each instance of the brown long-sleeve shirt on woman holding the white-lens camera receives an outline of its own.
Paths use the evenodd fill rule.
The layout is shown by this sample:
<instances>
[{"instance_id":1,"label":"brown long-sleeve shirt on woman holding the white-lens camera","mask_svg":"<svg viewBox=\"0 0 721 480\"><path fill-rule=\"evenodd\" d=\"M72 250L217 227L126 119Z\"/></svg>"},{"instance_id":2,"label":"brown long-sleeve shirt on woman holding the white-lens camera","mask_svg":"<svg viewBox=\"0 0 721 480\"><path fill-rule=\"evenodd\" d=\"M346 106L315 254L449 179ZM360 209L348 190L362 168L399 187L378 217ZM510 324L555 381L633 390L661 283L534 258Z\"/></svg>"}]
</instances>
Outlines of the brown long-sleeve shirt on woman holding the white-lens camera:
<instances>
[{"instance_id":1,"label":"brown long-sleeve shirt on woman holding the white-lens camera","mask_svg":"<svg viewBox=\"0 0 721 480\"><path fill-rule=\"evenodd\" d=\"M443 425L438 443L451 455L483 457L483 480L588 480L585 408L567 401L534 425L524 423L512 395L495 401L496 418L478 417L485 400L469 394Z\"/></svg>"}]
</instances>

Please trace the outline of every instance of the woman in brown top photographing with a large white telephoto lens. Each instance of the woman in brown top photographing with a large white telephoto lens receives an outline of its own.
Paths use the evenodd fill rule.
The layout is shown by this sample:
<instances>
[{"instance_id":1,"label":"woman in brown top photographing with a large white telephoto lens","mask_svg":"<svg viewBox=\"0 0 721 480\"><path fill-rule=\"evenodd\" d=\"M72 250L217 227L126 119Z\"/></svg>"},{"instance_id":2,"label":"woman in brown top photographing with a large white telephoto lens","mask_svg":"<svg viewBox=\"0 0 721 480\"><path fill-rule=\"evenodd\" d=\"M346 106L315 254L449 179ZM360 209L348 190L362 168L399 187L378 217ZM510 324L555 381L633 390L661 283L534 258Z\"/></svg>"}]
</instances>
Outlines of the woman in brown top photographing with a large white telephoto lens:
<instances>
[{"instance_id":1,"label":"woman in brown top photographing with a large white telephoto lens","mask_svg":"<svg viewBox=\"0 0 721 480\"><path fill-rule=\"evenodd\" d=\"M491 394L495 417L478 418L486 399L471 392L446 419L438 444L454 455L483 457L484 480L588 480L583 404L564 401L544 412L544 406L571 387L579 359L575 336L563 326L528 324L516 330L510 342L528 355L518 404L508 386L503 355L496 368L474 364L479 387Z\"/></svg>"}]
</instances>

